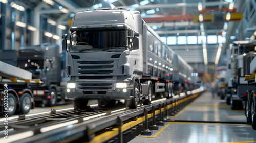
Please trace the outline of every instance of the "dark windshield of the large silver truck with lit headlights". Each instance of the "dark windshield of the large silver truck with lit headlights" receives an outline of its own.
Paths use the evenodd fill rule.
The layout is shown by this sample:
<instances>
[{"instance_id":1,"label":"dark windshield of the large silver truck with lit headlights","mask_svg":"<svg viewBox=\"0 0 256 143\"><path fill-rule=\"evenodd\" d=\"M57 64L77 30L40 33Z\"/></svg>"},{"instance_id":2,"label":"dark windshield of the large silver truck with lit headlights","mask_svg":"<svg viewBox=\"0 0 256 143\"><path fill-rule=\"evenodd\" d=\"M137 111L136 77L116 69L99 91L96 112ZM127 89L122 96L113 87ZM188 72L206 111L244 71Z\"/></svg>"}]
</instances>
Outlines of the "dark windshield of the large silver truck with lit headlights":
<instances>
[{"instance_id":1,"label":"dark windshield of the large silver truck with lit headlights","mask_svg":"<svg viewBox=\"0 0 256 143\"><path fill-rule=\"evenodd\" d=\"M124 51L125 30L76 31L71 41L73 52Z\"/></svg>"}]
</instances>

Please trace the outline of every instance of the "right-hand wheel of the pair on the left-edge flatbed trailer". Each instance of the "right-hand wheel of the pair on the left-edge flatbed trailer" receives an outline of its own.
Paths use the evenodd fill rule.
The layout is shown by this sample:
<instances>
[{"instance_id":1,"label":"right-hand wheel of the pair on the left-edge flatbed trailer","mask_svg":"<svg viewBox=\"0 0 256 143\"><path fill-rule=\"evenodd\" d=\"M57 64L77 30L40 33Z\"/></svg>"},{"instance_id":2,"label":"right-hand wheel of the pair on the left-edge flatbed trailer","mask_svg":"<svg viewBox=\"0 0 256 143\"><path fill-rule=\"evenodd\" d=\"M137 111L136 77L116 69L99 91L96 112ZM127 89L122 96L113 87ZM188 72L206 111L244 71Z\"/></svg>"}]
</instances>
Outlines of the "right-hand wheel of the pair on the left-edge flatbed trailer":
<instances>
[{"instance_id":1,"label":"right-hand wheel of the pair on the left-edge flatbed trailer","mask_svg":"<svg viewBox=\"0 0 256 143\"><path fill-rule=\"evenodd\" d=\"M31 103L31 97L28 93L24 93L22 97L20 97L20 113L21 114L27 114L29 110L31 109L32 103Z\"/></svg>"}]
</instances>

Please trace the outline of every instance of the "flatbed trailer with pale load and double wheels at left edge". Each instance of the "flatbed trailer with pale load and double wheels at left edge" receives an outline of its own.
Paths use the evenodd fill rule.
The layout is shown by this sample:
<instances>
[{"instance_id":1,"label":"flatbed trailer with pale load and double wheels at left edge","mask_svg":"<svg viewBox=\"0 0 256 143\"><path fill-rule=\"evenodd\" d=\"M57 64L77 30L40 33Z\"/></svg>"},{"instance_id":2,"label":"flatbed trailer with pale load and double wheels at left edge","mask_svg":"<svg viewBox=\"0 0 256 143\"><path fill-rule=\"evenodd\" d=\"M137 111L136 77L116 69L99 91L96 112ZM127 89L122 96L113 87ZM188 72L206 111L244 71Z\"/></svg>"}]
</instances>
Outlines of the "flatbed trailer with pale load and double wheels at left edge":
<instances>
[{"instance_id":1,"label":"flatbed trailer with pale load and double wheels at left edge","mask_svg":"<svg viewBox=\"0 0 256 143\"><path fill-rule=\"evenodd\" d=\"M31 86L40 86L32 73L0 61L0 113L27 114L35 106Z\"/></svg>"}]
</instances>

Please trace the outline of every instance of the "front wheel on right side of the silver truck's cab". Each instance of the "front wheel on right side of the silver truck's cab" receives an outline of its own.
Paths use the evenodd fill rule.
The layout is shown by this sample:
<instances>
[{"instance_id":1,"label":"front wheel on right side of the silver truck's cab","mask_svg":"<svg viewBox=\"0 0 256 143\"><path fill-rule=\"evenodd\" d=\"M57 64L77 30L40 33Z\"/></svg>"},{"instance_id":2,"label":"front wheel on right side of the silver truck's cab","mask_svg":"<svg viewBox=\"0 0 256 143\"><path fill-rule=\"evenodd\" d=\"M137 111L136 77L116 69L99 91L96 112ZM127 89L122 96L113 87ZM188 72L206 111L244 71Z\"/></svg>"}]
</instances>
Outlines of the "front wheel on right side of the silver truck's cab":
<instances>
[{"instance_id":1,"label":"front wheel on right side of the silver truck's cab","mask_svg":"<svg viewBox=\"0 0 256 143\"><path fill-rule=\"evenodd\" d=\"M127 106L129 106L130 109L136 109L138 104L140 102L140 88L138 82L134 82L133 85L133 99L126 100Z\"/></svg>"}]
</instances>

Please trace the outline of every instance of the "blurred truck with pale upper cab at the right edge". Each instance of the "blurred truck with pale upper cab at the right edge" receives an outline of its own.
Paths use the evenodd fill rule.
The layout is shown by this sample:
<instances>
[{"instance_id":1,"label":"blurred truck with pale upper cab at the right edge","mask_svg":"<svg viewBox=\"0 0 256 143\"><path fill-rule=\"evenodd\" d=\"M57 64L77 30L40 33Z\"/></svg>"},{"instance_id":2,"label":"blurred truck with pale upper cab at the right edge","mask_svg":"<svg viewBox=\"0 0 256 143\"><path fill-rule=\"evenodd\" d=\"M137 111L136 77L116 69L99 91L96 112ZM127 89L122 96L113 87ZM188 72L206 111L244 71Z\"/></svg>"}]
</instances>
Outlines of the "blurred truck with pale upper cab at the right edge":
<instances>
[{"instance_id":1,"label":"blurred truck with pale upper cab at the right edge","mask_svg":"<svg viewBox=\"0 0 256 143\"><path fill-rule=\"evenodd\" d=\"M253 90L253 85L248 85L245 75L249 75L249 64L247 56L254 53L254 47L249 41L234 41L232 46L230 69L234 77L230 78L232 82L230 105L231 109L243 109L243 97L247 90ZM229 81L230 82L230 81Z\"/></svg>"}]
</instances>

